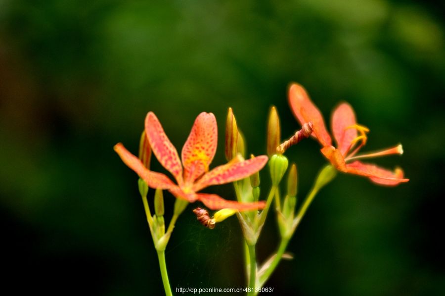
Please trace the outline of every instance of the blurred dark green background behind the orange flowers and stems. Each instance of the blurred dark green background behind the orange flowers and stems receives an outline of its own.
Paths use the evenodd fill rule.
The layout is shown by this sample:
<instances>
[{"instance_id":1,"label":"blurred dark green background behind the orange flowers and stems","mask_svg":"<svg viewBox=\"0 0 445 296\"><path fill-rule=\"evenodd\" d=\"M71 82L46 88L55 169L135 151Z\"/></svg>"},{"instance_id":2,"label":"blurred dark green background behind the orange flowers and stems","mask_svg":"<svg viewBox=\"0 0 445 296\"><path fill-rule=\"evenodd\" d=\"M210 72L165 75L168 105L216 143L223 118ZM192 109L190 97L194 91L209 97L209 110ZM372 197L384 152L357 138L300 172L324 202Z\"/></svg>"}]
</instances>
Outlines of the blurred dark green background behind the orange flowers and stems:
<instances>
[{"instance_id":1,"label":"blurred dark green background behind the orange flowers and stems","mask_svg":"<svg viewBox=\"0 0 445 296\"><path fill-rule=\"evenodd\" d=\"M2 289L158 295L156 252L137 176L113 151L137 152L154 111L180 150L213 112L223 164L233 107L249 153L263 154L276 105L283 138L299 125L287 85L304 85L325 119L340 100L371 130L362 149L398 143L411 181L378 187L340 175L316 197L267 283L298 295L445 295L444 3L412 0L0 0ZM325 163L315 141L286 155L299 198ZM153 169L163 171L153 161ZM263 194L268 172L262 173ZM210 192L233 199L230 186ZM174 197L165 194L167 217ZM189 205L166 251L177 287L244 287L231 218L210 231ZM260 261L277 246L269 216Z\"/></svg>"}]
</instances>

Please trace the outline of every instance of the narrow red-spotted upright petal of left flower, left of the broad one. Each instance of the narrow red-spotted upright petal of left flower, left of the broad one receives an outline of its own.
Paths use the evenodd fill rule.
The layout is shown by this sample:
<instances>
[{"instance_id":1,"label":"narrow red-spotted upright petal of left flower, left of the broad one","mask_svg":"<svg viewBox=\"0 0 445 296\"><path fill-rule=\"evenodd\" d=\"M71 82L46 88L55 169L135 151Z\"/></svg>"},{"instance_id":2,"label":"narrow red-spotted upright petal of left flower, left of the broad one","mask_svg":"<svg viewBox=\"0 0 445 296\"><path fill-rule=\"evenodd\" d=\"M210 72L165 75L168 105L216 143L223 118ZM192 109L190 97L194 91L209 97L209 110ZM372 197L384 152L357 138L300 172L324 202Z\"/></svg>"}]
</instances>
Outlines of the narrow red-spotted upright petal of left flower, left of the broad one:
<instances>
[{"instance_id":1,"label":"narrow red-spotted upright petal of left flower, left of the broad one","mask_svg":"<svg viewBox=\"0 0 445 296\"><path fill-rule=\"evenodd\" d=\"M178 151L164 132L161 123L153 112L145 117L145 133L156 158L182 184L182 165Z\"/></svg>"}]
</instances>

